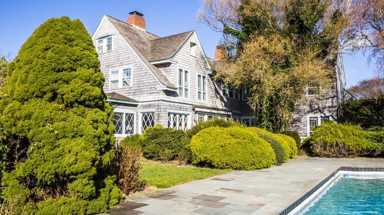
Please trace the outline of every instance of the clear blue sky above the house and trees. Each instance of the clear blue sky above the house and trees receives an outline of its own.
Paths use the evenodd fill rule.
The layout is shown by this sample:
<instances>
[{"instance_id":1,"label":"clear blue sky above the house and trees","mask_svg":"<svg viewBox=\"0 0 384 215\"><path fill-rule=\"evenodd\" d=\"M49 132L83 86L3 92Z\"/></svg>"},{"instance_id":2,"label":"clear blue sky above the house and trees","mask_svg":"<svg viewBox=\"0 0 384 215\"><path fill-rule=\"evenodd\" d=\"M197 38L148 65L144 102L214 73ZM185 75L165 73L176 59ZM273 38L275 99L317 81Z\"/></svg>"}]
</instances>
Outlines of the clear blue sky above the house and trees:
<instances>
[{"instance_id":1,"label":"clear blue sky above the house and trees","mask_svg":"<svg viewBox=\"0 0 384 215\"><path fill-rule=\"evenodd\" d=\"M102 16L126 21L128 13L144 14L146 30L160 37L196 30L208 57L213 58L222 37L209 27L195 22L199 0L15 0L1 3L0 54L15 56L33 30L52 17L80 19L92 36ZM365 57L343 55L346 88L373 76Z\"/></svg>"}]
</instances>

